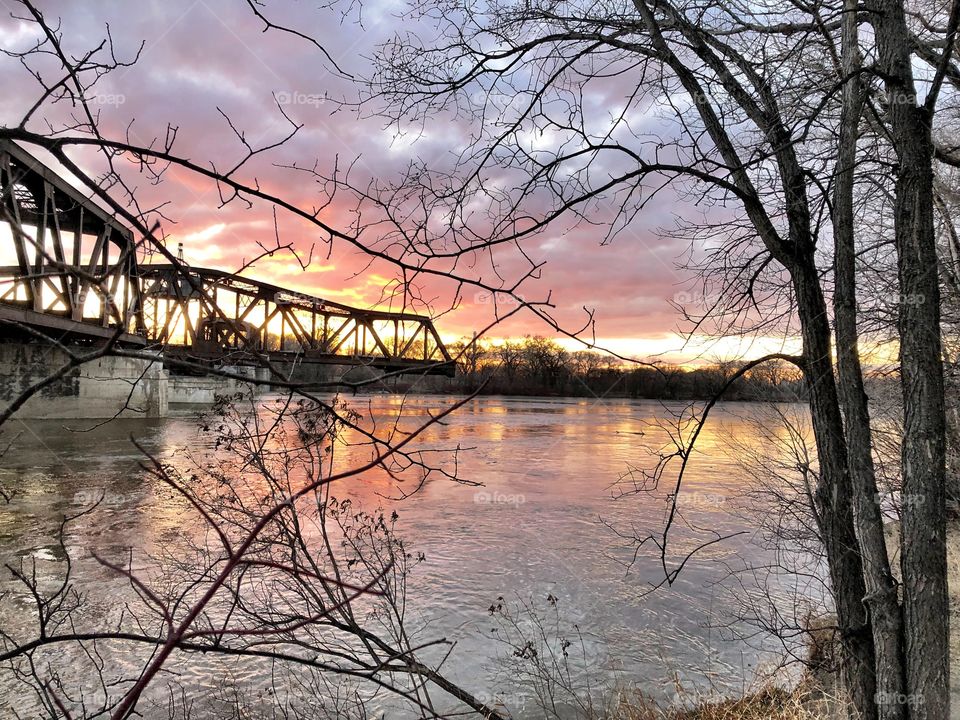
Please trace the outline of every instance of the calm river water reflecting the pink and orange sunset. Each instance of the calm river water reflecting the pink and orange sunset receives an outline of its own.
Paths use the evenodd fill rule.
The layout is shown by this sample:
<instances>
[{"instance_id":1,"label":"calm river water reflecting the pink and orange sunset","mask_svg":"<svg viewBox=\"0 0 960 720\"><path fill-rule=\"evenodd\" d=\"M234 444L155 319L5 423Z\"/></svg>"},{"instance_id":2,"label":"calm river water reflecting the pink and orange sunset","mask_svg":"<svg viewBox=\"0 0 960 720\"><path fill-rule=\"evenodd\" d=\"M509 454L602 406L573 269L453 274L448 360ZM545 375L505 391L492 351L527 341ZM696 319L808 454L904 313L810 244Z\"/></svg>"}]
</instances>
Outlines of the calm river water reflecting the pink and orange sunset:
<instances>
[{"instance_id":1,"label":"calm river water reflecting the pink and orange sunset","mask_svg":"<svg viewBox=\"0 0 960 720\"><path fill-rule=\"evenodd\" d=\"M348 402L386 422L401 399ZM450 402L407 398L406 422L412 427ZM550 607L548 596L557 598L566 631L576 623L582 633L585 677L636 683L661 697L673 695L677 678L690 687L736 689L770 657L759 650L765 645L762 636L745 645L717 627L731 621L736 598L746 592L731 589L729 572L744 563L762 565L770 557L756 542L753 524L735 511L752 477L738 453L731 452L729 438L749 441L755 435L752 423L762 421L764 413L759 405L721 406L702 435L685 486L687 523L743 534L696 555L677 582L652 593L651 586L662 579L658 562L641 554L631 565L633 547L611 528L643 534L662 526L664 505L655 498L612 499L618 477L631 467L649 467L651 450L669 440L657 427L657 418L667 413L656 402L477 399L432 428L423 445L459 445L459 475L483 487L434 478L398 500L391 499L400 494L395 485L370 473L334 494L350 496L365 508L379 504L397 511L397 529L408 548L426 556L408 589L410 624L423 639L455 641L444 666L447 675L481 696L504 698L517 716L536 713L527 690L498 659L504 647L491 639L495 623L487 610L499 596L544 610ZM85 429L83 423L12 423L6 429L5 442L13 445L0 458L0 482L15 488L16 496L0 505L0 560L36 559L41 573L52 572L58 548L51 537L60 518L102 492L104 503L70 527L67 545L76 559L78 584L94 607L108 613L116 609L123 583L90 560L90 552L119 561L133 547L136 563L184 527L196 525L182 505L145 477L130 436L174 461L185 449L203 452L203 438L189 414L77 429ZM359 461L366 452L341 449L339 461ZM695 537L702 536L679 528L674 558ZM0 588L14 590L9 573ZM777 594L785 588L777 583L770 590ZM0 623L22 629L30 621L27 605L22 590L6 595L0 600ZM181 679L196 690L201 706L205 689L223 682L202 666L184 672ZM242 668L236 674L253 687L262 680L245 676ZM0 676L0 716L30 707L31 698L11 694L12 687L9 676ZM389 717L410 716L389 700L374 707Z\"/></svg>"}]
</instances>

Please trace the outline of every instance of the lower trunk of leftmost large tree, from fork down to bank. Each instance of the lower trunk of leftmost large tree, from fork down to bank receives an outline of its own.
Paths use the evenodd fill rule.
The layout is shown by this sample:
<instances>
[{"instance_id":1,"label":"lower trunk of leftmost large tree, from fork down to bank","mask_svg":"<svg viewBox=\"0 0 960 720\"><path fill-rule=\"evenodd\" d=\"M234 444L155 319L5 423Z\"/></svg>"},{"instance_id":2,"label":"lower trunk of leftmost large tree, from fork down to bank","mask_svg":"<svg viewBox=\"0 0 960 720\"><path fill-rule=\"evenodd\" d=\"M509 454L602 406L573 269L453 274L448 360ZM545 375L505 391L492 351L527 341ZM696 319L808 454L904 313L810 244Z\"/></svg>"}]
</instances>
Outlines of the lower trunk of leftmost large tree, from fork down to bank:
<instances>
[{"instance_id":1,"label":"lower trunk of leftmost large tree, from fork down to bank","mask_svg":"<svg viewBox=\"0 0 960 720\"><path fill-rule=\"evenodd\" d=\"M878 717L876 656L870 618L863 603L866 588L854 532L853 488L833 376L827 308L812 256L798 263L792 274L820 463L817 514L836 602L844 658L843 679L859 717L874 720Z\"/></svg>"}]
</instances>

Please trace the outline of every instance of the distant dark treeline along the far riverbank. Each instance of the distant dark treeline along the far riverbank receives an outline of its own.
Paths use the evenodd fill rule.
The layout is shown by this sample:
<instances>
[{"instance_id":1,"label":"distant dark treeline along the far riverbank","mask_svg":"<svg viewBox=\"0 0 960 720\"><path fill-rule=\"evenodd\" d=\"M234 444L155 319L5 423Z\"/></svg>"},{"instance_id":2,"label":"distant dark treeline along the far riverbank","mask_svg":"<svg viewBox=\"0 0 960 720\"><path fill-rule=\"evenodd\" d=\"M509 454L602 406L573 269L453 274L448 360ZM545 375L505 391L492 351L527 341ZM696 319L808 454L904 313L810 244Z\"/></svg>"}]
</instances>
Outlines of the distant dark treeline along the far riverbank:
<instances>
[{"instance_id":1,"label":"distant dark treeline along the far riverbank","mask_svg":"<svg viewBox=\"0 0 960 720\"><path fill-rule=\"evenodd\" d=\"M482 386L488 395L699 400L715 395L741 367L736 363L690 369L635 365L590 351L569 352L542 337L496 345L463 342L450 351L459 355L457 377L444 389L472 392ZM724 398L793 401L802 399L803 393L795 367L769 363L734 381Z\"/></svg>"}]
</instances>

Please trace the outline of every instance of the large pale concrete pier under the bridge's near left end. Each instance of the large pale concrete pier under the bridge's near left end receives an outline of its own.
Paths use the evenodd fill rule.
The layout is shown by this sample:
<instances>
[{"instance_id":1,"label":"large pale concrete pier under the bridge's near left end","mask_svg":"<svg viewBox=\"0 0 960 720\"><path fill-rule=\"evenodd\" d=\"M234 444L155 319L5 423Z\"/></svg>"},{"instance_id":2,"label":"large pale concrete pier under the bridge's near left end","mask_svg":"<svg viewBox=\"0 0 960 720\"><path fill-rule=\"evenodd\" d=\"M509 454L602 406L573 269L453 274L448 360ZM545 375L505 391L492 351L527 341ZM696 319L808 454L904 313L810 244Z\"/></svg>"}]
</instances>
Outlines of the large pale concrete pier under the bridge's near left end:
<instances>
[{"instance_id":1,"label":"large pale concrete pier under the bridge's near left end","mask_svg":"<svg viewBox=\"0 0 960 720\"><path fill-rule=\"evenodd\" d=\"M77 348L89 352L89 348ZM0 343L0 407L68 361L60 348L36 342ZM158 418L167 415L167 373L156 361L103 357L44 387L21 407L21 419Z\"/></svg>"}]
</instances>

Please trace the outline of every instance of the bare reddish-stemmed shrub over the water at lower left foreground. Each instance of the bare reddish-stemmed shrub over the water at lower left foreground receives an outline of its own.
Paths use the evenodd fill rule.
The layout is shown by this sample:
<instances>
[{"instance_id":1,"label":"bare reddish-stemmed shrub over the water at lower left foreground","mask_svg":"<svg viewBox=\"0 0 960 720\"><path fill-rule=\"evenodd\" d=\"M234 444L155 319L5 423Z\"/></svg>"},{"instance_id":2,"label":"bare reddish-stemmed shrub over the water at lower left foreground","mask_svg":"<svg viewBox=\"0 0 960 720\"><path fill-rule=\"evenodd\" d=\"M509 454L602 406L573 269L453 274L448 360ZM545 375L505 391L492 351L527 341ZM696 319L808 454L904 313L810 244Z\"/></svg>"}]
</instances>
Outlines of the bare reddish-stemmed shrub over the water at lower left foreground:
<instances>
[{"instance_id":1,"label":"bare reddish-stemmed shrub over the water at lower left foreground","mask_svg":"<svg viewBox=\"0 0 960 720\"><path fill-rule=\"evenodd\" d=\"M408 627L405 588L419 556L397 534L396 516L333 494L386 457L340 469L336 448L347 428L325 408L291 398L268 406L225 399L203 425L215 450L145 460L199 526L185 523L181 538L146 563L149 572L132 553L122 563L97 557L128 581L122 613L100 619L91 611L67 547L67 526L96 505L61 524L59 582L41 580L36 561L9 568L33 598L35 621L3 632L0 662L47 716L128 717L163 697L164 685L193 697L158 673L217 659L261 668L295 717L340 717L349 708L337 697L353 698L360 712L384 692L418 714L450 712L453 702L498 717L421 660L448 643L420 640ZM426 467L397 463L394 472L435 472ZM159 687L148 692L152 684ZM247 692L242 684L235 691ZM438 694L448 700L438 703ZM173 702L169 712L188 717L189 705ZM216 712L216 703L203 712Z\"/></svg>"}]
</instances>

